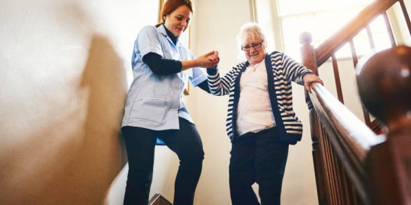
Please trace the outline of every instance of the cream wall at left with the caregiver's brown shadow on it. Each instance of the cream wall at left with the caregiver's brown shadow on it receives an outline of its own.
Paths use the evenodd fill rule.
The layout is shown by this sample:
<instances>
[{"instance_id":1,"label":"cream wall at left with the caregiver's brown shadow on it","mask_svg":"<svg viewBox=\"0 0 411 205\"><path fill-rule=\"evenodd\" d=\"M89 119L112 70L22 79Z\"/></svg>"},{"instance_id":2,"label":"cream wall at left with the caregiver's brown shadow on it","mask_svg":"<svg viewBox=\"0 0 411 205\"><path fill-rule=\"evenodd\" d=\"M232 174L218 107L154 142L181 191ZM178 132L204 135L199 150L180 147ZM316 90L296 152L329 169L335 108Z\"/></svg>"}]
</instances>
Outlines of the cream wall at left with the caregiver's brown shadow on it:
<instances>
[{"instance_id":1,"label":"cream wall at left with the caregiver's brown shadow on it","mask_svg":"<svg viewBox=\"0 0 411 205\"><path fill-rule=\"evenodd\" d=\"M130 56L157 9L157 1L0 2L0 204L121 203L124 185L109 190L125 164Z\"/></svg>"}]
</instances>

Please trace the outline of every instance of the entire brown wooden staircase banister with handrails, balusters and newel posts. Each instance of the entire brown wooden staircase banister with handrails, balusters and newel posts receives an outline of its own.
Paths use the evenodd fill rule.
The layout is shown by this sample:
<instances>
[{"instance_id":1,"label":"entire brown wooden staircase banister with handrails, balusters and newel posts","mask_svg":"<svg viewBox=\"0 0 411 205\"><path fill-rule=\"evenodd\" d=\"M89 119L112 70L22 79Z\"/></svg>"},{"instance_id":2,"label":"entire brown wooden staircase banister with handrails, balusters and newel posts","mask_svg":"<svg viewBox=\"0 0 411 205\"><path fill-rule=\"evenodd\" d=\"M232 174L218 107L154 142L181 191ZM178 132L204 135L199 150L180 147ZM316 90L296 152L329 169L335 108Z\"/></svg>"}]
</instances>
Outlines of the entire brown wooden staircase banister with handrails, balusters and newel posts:
<instances>
[{"instance_id":1,"label":"entire brown wooden staircase banister with handrails, balusters and newel posts","mask_svg":"<svg viewBox=\"0 0 411 205\"><path fill-rule=\"evenodd\" d=\"M306 93L312 156L319 204L411 204L411 48L398 46L387 10L399 5L409 34L411 22L402 0L376 0L319 47L303 33L303 65L318 75L331 58L337 98L318 83ZM382 15L392 48L358 64L353 38ZM349 44L357 70L364 122L344 106L337 52ZM377 119L370 121L369 113ZM371 130L372 129L372 130Z\"/></svg>"}]
</instances>

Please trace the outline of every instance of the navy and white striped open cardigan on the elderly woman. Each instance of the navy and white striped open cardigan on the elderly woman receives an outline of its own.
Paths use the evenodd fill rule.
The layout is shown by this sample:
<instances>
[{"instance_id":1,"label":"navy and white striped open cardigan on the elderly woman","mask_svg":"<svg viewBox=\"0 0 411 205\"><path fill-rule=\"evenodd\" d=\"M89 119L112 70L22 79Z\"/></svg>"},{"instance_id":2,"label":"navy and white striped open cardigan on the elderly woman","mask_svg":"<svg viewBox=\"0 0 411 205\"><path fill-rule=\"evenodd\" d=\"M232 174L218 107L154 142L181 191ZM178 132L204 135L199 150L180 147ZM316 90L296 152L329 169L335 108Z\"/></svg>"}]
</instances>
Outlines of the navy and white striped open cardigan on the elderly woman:
<instances>
[{"instance_id":1,"label":"navy and white striped open cardigan on the elderly woman","mask_svg":"<svg viewBox=\"0 0 411 205\"><path fill-rule=\"evenodd\" d=\"M266 54L265 64L271 108L277 129L279 133L282 133L278 137L280 140L287 140L290 144L296 144L297 141L301 140L303 125L296 117L292 107L291 81L304 85L304 75L313 73L278 51ZM248 65L248 61L237 64L223 77L220 77L218 69L207 69L211 94L229 94L226 130L231 141L238 136L236 132L236 114L240 96L239 81L241 73Z\"/></svg>"}]
</instances>

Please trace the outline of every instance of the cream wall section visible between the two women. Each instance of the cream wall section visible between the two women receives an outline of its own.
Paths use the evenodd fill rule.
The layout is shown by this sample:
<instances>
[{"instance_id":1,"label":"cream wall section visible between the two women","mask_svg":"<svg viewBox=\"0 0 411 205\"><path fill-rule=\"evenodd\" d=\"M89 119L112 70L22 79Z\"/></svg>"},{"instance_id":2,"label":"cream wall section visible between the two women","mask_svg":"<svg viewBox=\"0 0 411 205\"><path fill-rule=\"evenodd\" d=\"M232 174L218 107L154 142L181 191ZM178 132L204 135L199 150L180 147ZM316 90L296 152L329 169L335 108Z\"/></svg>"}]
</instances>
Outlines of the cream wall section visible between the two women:
<instances>
[{"instance_id":1,"label":"cream wall section visible between the two women","mask_svg":"<svg viewBox=\"0 0 411 205\"><path fill-rule=\"evenodd\" d=\"M218 50L220 71L226 73L238 62L235 35L250 19L248 1L197 1L195 7L192 50L196 55ZM225 132L227 100L226 96L211 96L199 89L192 89L188 98L205 152L195 195L197 205L231 204L228 183L231 143Z\"/></svg>"}]
</instances>

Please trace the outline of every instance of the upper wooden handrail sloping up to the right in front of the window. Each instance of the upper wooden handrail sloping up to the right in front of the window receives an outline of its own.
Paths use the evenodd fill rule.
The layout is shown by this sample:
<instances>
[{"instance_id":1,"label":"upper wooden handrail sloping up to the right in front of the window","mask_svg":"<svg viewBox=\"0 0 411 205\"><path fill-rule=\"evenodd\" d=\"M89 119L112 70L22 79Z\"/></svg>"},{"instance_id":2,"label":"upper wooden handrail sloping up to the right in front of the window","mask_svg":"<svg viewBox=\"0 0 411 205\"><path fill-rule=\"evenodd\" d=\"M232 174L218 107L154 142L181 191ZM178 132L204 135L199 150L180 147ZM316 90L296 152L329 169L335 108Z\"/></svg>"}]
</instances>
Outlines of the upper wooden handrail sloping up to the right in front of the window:
<instances>
[{"instance_id":1,"label":"upper wooden handrail sloping up to the right in front of the window","mask_svg":"<svg viewBox=\"0 0 411 205\"><path fill-rule=\"evenodd\" d=\"M317 66L321 66L329 57L331 57L333 51L341 48L348 39L352 38L359 33L361 29L365 28L373 18L378 16L378 14L385 12L396 2L398 2L398 0L375 0L365 7L356 17L351 19L348 24L335 32L330 38L325 40L324 43L315 49Z\"/></svg>"}]
</instances>

